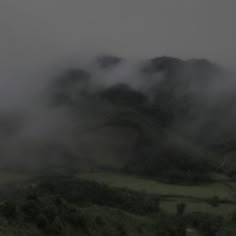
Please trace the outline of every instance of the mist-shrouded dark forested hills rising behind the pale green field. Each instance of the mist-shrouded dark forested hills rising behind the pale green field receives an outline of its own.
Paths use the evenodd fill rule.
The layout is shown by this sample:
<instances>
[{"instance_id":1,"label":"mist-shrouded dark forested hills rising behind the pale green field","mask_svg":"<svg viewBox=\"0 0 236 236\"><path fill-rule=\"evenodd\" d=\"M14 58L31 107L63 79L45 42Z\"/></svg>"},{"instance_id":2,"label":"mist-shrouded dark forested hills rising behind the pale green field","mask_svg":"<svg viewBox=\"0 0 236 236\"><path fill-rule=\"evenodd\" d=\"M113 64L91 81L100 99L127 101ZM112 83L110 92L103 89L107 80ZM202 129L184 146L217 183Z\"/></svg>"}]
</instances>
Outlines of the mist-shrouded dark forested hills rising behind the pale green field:
<instances>
[{"instance_id":1,"label":"mist-shrouded dark forested hills rising behind the pale green field","mask_svg":"<svg viewBox=\"0 0 236 236\"><path fill-rule=\"evenodd\" d=\"M112 167L169 180L233 175L224 156L236 148L235 88L232 72L203 59L131 63L99 56L57 73L44 92L44 110L60 111L50 127L65 118L52 137L32 131L27 143L24 115L1 115L2 159L11 156L18 167ZM9 152L18 137L23 150Z\"/></svg>"}]
</instances>

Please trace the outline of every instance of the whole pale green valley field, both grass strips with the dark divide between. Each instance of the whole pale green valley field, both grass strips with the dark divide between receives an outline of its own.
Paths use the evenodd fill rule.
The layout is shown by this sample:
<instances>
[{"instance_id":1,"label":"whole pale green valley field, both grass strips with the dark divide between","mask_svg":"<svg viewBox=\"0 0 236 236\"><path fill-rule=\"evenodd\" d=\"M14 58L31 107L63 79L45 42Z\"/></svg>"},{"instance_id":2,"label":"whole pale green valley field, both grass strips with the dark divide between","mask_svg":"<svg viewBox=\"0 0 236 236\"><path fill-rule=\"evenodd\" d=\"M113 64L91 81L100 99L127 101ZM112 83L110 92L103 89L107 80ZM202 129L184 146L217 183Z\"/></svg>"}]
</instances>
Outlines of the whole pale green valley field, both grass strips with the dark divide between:
<instances>
[{"instance_id":1,"label":"whole pale green valley field, both grass strips with the dark divide between","mask_svg":"<svg viewBox=\"0 0 236 236\"><path fill-rule=\"evenodd\" d=\"M161 207L170 213L176 212L176 204L180 202L187 204L187 212L203 211L228 216L236 210L236 204L220 204L217 207L213 207L206 202L206 199L213 196L234 201L236 184L232 184L231 188L223 182L195 186L172 185L137 176L105 172L83 173L79 177L112 187L158 194L162 196Z\"/></svg>"}]
</instances>

